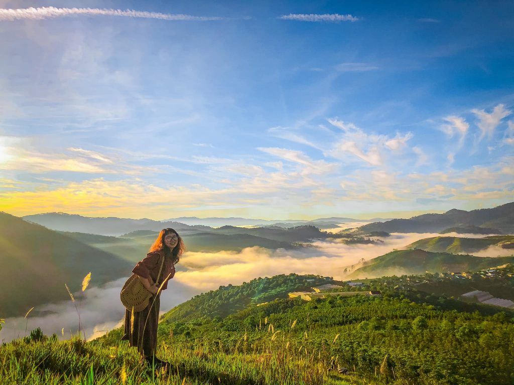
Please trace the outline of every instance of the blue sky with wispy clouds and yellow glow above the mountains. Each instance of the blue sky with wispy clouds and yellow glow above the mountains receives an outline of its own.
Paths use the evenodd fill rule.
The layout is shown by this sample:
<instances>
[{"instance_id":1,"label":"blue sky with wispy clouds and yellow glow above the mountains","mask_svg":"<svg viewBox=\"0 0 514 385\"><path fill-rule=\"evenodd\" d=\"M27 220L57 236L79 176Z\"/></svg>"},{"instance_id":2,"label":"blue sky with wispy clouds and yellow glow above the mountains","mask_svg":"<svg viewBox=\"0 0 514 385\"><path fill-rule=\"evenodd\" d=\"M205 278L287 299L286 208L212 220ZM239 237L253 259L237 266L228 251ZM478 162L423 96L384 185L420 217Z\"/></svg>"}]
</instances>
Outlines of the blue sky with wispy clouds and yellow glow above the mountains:
<instances>
[{"instance_id":1,"label":"blue sky with wispy clouds and yellow glow above the mountains","mask_svg":"<svg viewBox=\"0 0 514 385\"><path fill-rule=\"evenodd\" d=\"M512 3L246 3L0 0L0 209L371 218L514 200Z\"/></svg>"}]
</instances>

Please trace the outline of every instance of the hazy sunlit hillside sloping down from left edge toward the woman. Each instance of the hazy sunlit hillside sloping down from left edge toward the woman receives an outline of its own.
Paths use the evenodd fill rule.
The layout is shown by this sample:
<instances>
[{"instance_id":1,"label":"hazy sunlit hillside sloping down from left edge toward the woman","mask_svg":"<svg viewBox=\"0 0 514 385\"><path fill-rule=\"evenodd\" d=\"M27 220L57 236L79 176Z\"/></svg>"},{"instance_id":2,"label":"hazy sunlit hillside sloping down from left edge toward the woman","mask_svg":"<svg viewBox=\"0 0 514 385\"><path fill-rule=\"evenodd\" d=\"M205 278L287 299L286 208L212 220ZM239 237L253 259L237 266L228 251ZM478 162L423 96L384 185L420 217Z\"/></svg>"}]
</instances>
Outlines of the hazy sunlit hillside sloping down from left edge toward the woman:
<instances>
[{"instance_id":1,"label":"hazy sunlit hillside sloping down from left edge toward the woman","mask_svg":"<svg viewBox=\"0 0 514 385\"><path fill-rule=\"evenodd\" d=\"M113 254L6 213L0 213L0 266L2 317L69 299L64 283L78 290L89 272L91 284L102 284L132 269Z\"/></svg>"}]
</instances>

